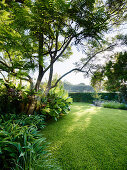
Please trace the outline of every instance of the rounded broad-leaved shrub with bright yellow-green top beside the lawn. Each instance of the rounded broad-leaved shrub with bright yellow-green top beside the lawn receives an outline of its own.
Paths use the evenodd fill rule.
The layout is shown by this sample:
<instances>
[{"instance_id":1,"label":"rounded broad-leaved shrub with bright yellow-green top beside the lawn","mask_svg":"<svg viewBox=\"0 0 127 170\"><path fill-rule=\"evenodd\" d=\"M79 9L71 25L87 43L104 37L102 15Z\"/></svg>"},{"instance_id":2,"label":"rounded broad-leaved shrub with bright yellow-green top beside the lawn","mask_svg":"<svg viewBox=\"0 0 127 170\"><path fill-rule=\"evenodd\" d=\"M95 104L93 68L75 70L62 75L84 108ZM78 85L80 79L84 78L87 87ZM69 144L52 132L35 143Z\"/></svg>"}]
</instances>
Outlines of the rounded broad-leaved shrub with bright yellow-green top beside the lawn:
<instances>
[{"instance_id":1,"label":"rounded broad-leaved shrub with bright yellow-green top beside the lawn","mask_svg":"<svg viewBox=\"0 0 127 170\"><path fill-rule=\"evenodd\" d=\"M72 99L61 86L53 88L47 96L41 96L39 102L40 111L44 115L50 115L57 120L61 115L67 114L70 110Z\"/></svg>"}]
</instances>

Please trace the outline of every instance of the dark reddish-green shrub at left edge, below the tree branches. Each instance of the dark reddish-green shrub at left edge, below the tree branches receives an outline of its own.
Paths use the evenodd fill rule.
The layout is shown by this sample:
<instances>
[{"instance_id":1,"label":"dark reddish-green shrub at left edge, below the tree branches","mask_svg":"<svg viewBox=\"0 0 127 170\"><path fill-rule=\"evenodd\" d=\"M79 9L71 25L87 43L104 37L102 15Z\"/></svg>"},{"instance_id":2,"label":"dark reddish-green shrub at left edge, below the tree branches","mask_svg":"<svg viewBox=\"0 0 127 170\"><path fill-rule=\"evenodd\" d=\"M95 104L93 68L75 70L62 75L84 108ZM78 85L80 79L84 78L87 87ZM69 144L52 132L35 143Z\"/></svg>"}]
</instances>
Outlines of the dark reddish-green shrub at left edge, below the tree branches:
<instances>
[{"instance_id":1,"label":"dark reddish-green shrub at left edge, below the tree branches","mask_svg":"<svg viewBox=\"0 0 127 170\"><path fill-rule=\"evenodd\" d=\"M6 86L6 87L5 87ZM26 106L30 101L32 91L27 91L21 86L15 87L14 84L1 84L0 87L0 112L1 114L19 114L27 110ZM6 106L6 107L5 107Z\"/></svg>"}]
</instances>

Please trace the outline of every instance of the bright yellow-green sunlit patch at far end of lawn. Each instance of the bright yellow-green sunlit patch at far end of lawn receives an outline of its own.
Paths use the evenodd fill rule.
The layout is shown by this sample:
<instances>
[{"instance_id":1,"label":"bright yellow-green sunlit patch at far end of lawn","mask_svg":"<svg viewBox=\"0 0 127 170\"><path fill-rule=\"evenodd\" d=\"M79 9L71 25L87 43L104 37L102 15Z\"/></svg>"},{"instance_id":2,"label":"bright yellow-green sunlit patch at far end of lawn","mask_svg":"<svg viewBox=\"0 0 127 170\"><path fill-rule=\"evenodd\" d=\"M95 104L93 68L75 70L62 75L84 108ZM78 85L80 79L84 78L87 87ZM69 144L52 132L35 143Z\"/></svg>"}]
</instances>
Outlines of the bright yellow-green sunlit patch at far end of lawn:
<instances>
[{"instance_id":1,"label":"bright yellow-green sunlit patch at far end of lawn","mask_svg":"<svg viewBox=\"0 0 127 170\"><path fill-rule=\"evenodd\" d=\"M69 127L73 128L75 124L80 124L80 122L84 121L84 124L87 124L87 127L88 124L90 124L92 116L99 114L100 109L101 107L91 106L90 104L85 104L84 106L82 103L79 103L78 106L72 105L71 111L67 116L62 116L57 122L55 120L50 120L47 122L47 125L53 126L58 124L62 130L65 128L68 129Z\"/></svg>"}]
</instances>

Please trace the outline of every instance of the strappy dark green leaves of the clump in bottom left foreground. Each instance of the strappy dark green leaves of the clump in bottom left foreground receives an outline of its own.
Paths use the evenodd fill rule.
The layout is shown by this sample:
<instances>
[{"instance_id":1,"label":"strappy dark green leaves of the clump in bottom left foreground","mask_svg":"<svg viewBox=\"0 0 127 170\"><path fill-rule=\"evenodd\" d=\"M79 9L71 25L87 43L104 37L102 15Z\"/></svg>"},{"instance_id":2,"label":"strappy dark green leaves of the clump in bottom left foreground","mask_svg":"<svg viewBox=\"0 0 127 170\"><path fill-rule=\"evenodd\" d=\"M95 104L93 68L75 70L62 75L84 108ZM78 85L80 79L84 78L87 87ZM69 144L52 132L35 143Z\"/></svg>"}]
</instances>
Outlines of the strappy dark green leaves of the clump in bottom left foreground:
<instances>
[{"instance_id":1,"label":"strappy dark green leaves of the clump in bottom left foreground","mask_svg":"<svg viewBox=\"0 0 127 170\"><path fill-rule=\"evenodd\" d=\"M43 115L1 115L0 169L59 170L56 160L50 159L48 143L39 131L44 127Z\"/></svg>"}]
</instances>

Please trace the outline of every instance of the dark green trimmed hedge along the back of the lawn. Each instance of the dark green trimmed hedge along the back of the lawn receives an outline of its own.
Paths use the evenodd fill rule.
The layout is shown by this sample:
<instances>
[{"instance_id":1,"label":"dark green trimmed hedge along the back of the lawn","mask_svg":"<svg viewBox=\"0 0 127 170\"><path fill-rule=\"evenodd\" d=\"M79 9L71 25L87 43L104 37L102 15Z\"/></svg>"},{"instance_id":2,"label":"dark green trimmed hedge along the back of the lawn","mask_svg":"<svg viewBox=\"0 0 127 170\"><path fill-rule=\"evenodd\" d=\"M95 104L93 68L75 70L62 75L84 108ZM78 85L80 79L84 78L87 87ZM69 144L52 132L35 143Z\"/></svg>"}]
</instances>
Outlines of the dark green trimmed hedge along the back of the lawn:
<instances>
[{"instance_id":1,"label":"dark green trimmed hedge along the back of the lawn","mask_svg":"<svg viewBox=\"0 0 127 170\"><path fill-rule=\"evenodd\" d=\"M74 102L93 103L93 100L95 100L93 94L94 93L69 93L69 96L73 98ZM103 100L118 101L119 99L118 93L98 93L98 94L101 95L101 99Z\"/></svg>"}]
</instances>

